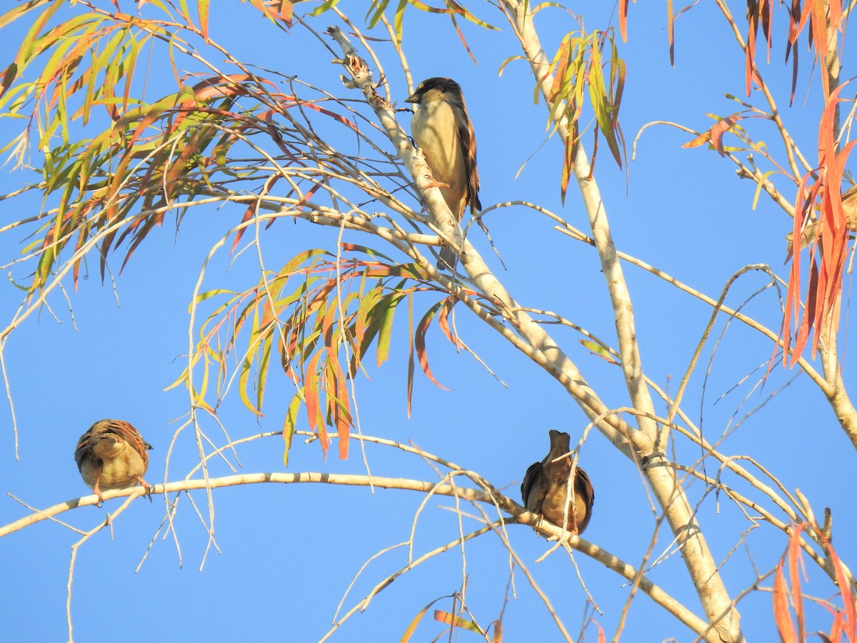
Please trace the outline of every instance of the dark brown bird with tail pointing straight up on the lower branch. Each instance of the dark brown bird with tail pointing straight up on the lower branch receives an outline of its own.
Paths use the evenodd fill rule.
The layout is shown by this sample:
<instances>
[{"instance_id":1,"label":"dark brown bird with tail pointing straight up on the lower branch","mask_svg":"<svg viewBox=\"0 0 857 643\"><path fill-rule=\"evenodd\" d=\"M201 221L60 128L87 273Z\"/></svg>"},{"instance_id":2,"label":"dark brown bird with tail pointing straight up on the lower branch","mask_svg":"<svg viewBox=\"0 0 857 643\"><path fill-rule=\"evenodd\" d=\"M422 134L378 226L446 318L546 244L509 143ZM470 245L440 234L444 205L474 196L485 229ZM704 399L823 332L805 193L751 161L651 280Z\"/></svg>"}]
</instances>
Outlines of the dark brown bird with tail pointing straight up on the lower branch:
<instances>
[{"instance_id":1,"label":"dark brown bird with tail pointing straight up on the lower branch","mask_svg":"<svg viewBox=\"0 0 857 643\"><path fill-rule=\"evenodd\" d=\"M572 472L570 438L567 433L550 430L550 451L541 462L530 465L521 483L524 507L542 514L556 526L562 526L566 514L566 532L581 534L589 525L595 492L589 476L579 466L574 474L574 495L568 484ZM562 456L566 455L565 458ZM557 460L561 458L561 460ZM557 461L554 461L557 460ZM572 503L573 499L573 503Z\"/></svg>"}]
</instances>

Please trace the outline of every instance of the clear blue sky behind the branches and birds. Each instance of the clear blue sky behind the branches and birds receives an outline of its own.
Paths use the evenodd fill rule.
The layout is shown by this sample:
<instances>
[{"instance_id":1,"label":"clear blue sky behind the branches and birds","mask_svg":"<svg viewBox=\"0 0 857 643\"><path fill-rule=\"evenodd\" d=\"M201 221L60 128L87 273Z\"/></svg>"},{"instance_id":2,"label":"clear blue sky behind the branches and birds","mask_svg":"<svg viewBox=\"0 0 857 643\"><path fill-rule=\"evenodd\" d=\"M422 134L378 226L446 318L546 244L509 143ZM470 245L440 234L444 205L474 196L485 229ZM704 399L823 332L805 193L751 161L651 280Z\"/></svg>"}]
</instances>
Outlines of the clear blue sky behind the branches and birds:
<instances>
[{"instance_id":1,"label":"clear blue sky behind the branches and birds","mask_svg":"<svg viewBox=\"0 0 857 643\"><path fill-rule=\"evenodd\" d=\"M460 22L477 64L466 56L448 21L413 10L407 13L404 46L415 81L449 75L464 88L476 129L484 207L503 201L533 201L585 229L584 210L573 186L565 205L560 203L562 149L555 137L545 141L547 115L541 103L533 103L529 68L523 62L513 62L502 75L497 73L507 57L518 55L516 41L501 15L488 4L477 10L501 29L500 33L487 33ZM588 8L580 10L586 12L587 28L615 25L609 12L601 15L590 14ZM743 15L740 3L735 3L733 10ZM723 93L742 95L744 68L722 19L708 6L696 6L682 15L676 30L676 66L671 68L665 15L663 8L632 5L628 42L620 45L628 69L620 120L629 152L645 123L658 120L704 129L710 123L706 112L724 115L739 109L723 98ZM363 15L351 17L360 24ZM333 20L333 15L324 16L311 24L321 32ZM245 3L229 3L228 9L225 4L213 7L211 24L212 38L237 57L284 75L297 75L341 97L359 98L341 86L341 70L330 63L329 52L301 27L290 33L279 31ZM545 9L536 24L548 48L555 47L562 35L574 28L572 15L559 9ZM792 135L806 156L814 159L818 70L812 77L808 65L801 70L797 99L789 108L784 92L788 91L790 65L781 62L785 26L784 15L777 14L771 56L775 62L764 66L764 74L780 92L780 108ZM0 61L14 56L21 28L13 24L8 36L4 30ZM847 45L846 69L849 53L853 53L848 47L853 50L853 45ZM393 51L379 44L377 53L402 105L408 92ZM800 53L808 63L806 49ZM156 66L149 73L155 91L159 73L167 72ZM759 97L754 95L751 100L758 101ZM405 114L399 116L406 129L409 121ZM0 118L3 141L20 127L20 121ZM748 127L753 128L755 139L776 148L776 132L769 123L759 121ZM665 125L646 129L627 179L624 168L616 168L602 149L596 178L617 247L715 298L726 279L746 264L770 264L787 278L788 268L782 265L783 237L791 219L764 196L753 209L752 184L737 179L734 167L713 151L682 149L680 146L689 139L689 135ZM586 141L590 146L591 137ZM32 172L13 171L12 165L0 171L2 193L35 179ZM789 198L794 194L785 180L781 179L778 186ZM38 198L2 201L0 225L38 210ZM154 446L147 479L164 481L171 439L188 412L189 402L182 388L164 390L183 368L188 347L188 304L209 249L239 223L242 214L240 206L191 210L178 231L174 220L168 218L163 227L149 235L121 274L123 255L111 257L117 275L115 292L109 281L101 283L97 257L92 257L87 278L81 279L77 291L71 291L67 284L73 315L63 297L53 297L50 303L56 317L43 309L38 317L15 329L5 348L5 360L19 428L20 460L15 459L7 403L0 416L0 490L35 508L86 494L72 454L78 436L99 418L123 418L135 424ZM593 250L552 231L547 219L523 207L495 211L487 223L507 271L491 256L479 231L474 230L470 238L522 305L555 310L615 344L613 315ZM26 234L20 230L0 234L4 277L20 280L30 269L27 265L9 266L27 243ZM354 233L346 240L381 245ZM319 230L305 222L293 224L287 219L273 225L262 243L266 256L277 264L308 247L333 249L335 241L336 231ZM403 260L401 256L394 258ZM710 309L638 268L626 265L625 273L644 369L662 387L674 391ZM205 284L207 288L248 287L258 278L258 261L249 253L232 261L222 251L207 267ZM765 283L762 274L740 279L728 297L729 305L740 305ZM848 290L848 282L846 287ZM21 291L9 279L0 279L0 288L0 314L5 326L21 301ZM430 305L428 299L423 305ZM848 306L847 298L843 308ZM779 299L771 289L752 298L746 311L771 328L779 328ZM455 352L434 328L428 340L431 367L434 376L452 390L441 390L417 376L411 418L407 418L408 338L405 316L398 316L392 358L380 369L369 369L370 379L362 377L357 382L363 432L412 441L478 472L518 500L518 484L527 466L547 453L548 429L566 430L576 441L586 420L556 382L497 334L471 319L465 309L458 310L457 323L464 340L505 385L467 354ZM723 328L722 320L712 337L719 337ZM843 363L850 384L854 358L848 350L848 335L853 322L846 317L842 328L846 336ZM619 369L590 355L578 343L579 335L558 327L549 327L549 332L608 406L626 405ZM818 513L830 507L834 544L844 560L854 561L857 543L848 534L857 528L857 501L851 476L845 473L853 470L854 448L823 396L805 376L793 381L795 372L780 367L775 367L761 391L752 391L761 375L757 369L770 358L771 346L747 328L732 324L709 362L713 347L713 341L706 345L701 365L692 377L686 412L697 424L701 422L704 434L715 441L730 421L734 424L731 418L744 418L766 402L725 439L722 451L757 459L788 490L799 487ZM787 382L791 383L781 390ZM284 384L273 382L263 418L249 414L235 391L225 399L218 410L219 419L233 439L282 427L292 394L290 386ZM662 405L658 411L663 411ZM299 428L306 429L306 425ZM224 442L213 422L203 420L203 429L219 444ZM677 446L677 452L681 461L694 457L686 444ZM365 472L357 449L352 449L348 461L337 460L333 454L323 460L317 443L299 440L286 470L278 436L251 442L239 455L241 472L248 473ZM368 457L375 475L437 479L421 460L389 448L368 448ZM596 431L585 443L580 461L596 490L594 517L585 538L637 565L650 543L656 517L638 472ZM185 431L173 448L169 479L182 479L195 462L195 444ZM212 475L228 474L226 466L213 465ZM704 487L690 484L688 493L695 502L703 496ZM197 492L193 497L197 506L204 508L205 495ZM363 562L409 538L423 496L326 484L258 484L217 490L214 501L215 537L221 553L209 552L203 568L207 538L186 499L177 517L180 554L174 538L170 535L163 539L164 532L159 532L165 514L163 496L155 496L152 504L135 501L111 530L99 532L83 545L72 598L75 640L102 640L119 627L128 628L121 638L129 641L318 640L330 628L339 599ZM59 518L86 531L103 521L119 503L113 500L104 508L81 508ZM417 520L418 554L457 538L458 520L449 510L452 507L448 499L428 501ZM473 512L472 508L465 510ZM27 509L11 497L0 500L0 525L24 514ZM713 495L706 496L700 505L699 520L717 561L728 556L741 532L751 526L733 504L721 497L718 505ZM465 518L464 522L470 530L478 526L474 520ZM554 552L536 563L548 544L525 526L512 526L510 532L518 556L536 574L566 627L576 634L584 618L586 596L568 557ZM156 533L159 538L147 554ZM67 635L69 548L78 538L67 526L45 521L0 541L0 573L4 579L13 579L3 583L0 601L4 635L9 640L61 640ZM668 531L662 529L656 555L669 549L670 539ZM770 569L786 545L782 532L764 522L753 529L746 544L741 544L722 568L730 592L737 595L750 586L755 580L752 566L763 572ZM135 572L144 556L145 562ZM630 588L585 556L577 554L575 561L603 612L596 615L596 621L612 636ZM406 554L399 548L369 564L346 598L345 610L405 562ZM459 550L435 557L381 592L369 609L352 616L333 640L398 640L424 605L459 590L462 568ZM547 611L518 568L515 593L507 590L509 558L497 538L483 536L468 545L466 574L468 606L482 625L497 618L505 604L505 640L559 640ZM810 592L823 598L835 593L817 569L810 568L810 576ZM678 556L652 570L650 578L699 613ZM768 580L764 585L770 584ZM445 599L434 607L450 610L451 602ZM770 592L752 593L739 609L748 640L774 636ZM825 628L823 611L812 614L809 629ZM415 640L431 640L440 631L429 613ZM594 639L595 635L590 626L587 636ZM475 637L468 633L459 636L459 640ZM644 596L634 600L624 638L692 640L684 626Z\"/></svg>"}]
</instances>

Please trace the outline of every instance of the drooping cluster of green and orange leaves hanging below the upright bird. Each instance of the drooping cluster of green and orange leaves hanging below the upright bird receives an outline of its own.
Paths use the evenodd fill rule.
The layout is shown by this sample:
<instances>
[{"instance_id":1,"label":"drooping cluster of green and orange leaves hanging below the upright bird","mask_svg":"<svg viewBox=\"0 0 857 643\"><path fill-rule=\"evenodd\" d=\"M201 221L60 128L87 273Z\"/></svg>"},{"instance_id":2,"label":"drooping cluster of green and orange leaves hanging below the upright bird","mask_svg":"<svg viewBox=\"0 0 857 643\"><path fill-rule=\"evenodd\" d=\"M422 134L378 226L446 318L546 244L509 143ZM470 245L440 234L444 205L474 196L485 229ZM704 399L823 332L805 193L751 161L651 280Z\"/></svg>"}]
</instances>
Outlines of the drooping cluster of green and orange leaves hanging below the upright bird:
<instances>
[{"instance_id":1,"label":"drooping cluster of green and orange leaves hanging below the upright bird","mask_svg":"<svg viewBox=\"0 0 857 643\"><path fill-rule=\"evenodd\" d=\"M343 244L332 255L311 249L293 257L277 272L266 273L254 288L243 292L205 291L195 297L191 309L211 300L216 304L201 324L200 340L189 364L201 370L200 384L193 385L189 368L171 387L188 387L200 406L213 411L229 388L231 358L237 363L238 390L250 412L262 414L262 403L271 369L279 369L294 384L296 393L285 412L284 437L288 447L300 406L309 427L321 438L327 454L327 428L339 436L339 457L348 455L348 434L355 426L349 383L354 380L375 346L375 365L390 355L393 319L400 304L408 306L407 403L410 411L414 364L437 386L428 365L426 334L434 319L457 346L448 315L455 300L436 285L417 264L395 264L369 248ZM373 255L375 261L361 256ZM416 326L412 309L420 293L441 298L429 306ZM470 293L475 295L475 293ZM242 346L239 348L239 345ZM278 356L272 362L273 355ZM209 388L216 401L207 402Z\"/></svg>"}]
</instances>

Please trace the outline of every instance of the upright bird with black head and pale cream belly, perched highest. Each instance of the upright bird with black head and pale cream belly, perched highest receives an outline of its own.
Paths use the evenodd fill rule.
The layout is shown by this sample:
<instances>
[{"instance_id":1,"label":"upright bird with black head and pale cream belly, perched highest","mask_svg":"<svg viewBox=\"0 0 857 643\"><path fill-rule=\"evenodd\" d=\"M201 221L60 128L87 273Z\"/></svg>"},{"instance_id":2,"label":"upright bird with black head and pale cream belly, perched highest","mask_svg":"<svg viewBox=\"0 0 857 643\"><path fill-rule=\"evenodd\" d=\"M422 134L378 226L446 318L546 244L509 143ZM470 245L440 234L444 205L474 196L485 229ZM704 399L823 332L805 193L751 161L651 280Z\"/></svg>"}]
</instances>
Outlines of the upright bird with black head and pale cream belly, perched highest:
<instances>
[{"instance_id":1,"label":"upright bird with black head and pale cream belly, perched highest","mask_svg":"<svg viewBox=\"0 0 857 643\"><path fill-rule=\"evenodd\" d=\"M411 120L411 134L423 150L440 194L452 216L461 221L464 209L482 209L479 202L479 172L476 171L476 136L467 116L464 94L451 78L428 78L405 99L417 105ZM455 252L440 249L440 270L452 270Z\"/></svg>"}]
</instances>

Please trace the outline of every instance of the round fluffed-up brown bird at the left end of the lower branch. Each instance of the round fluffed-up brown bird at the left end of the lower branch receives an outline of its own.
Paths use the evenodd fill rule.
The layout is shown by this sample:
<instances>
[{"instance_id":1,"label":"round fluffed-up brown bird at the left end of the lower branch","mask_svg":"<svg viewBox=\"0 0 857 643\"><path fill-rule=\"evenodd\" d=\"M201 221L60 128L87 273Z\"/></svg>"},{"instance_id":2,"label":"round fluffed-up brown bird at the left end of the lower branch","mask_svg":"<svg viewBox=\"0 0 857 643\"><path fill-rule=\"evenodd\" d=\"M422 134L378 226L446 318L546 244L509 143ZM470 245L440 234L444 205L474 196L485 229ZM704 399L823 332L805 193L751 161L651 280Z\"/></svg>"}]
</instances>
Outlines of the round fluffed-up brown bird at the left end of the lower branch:
<instances>
[{"instance_id":1,"label":"round fluffed-up brown bird at the left end of the lower branch","mask_svg":"<svg viewBox=\"0 0 857 643\"><path fill-rule=\"evenodd\" d=\"M75 449L75 462L83 482L104 502L102 490L124 489L142 484L149 468L147 450L152 445L140 431L123 420L99 420L81 436Z\"/></svg>"}]
</instances>

